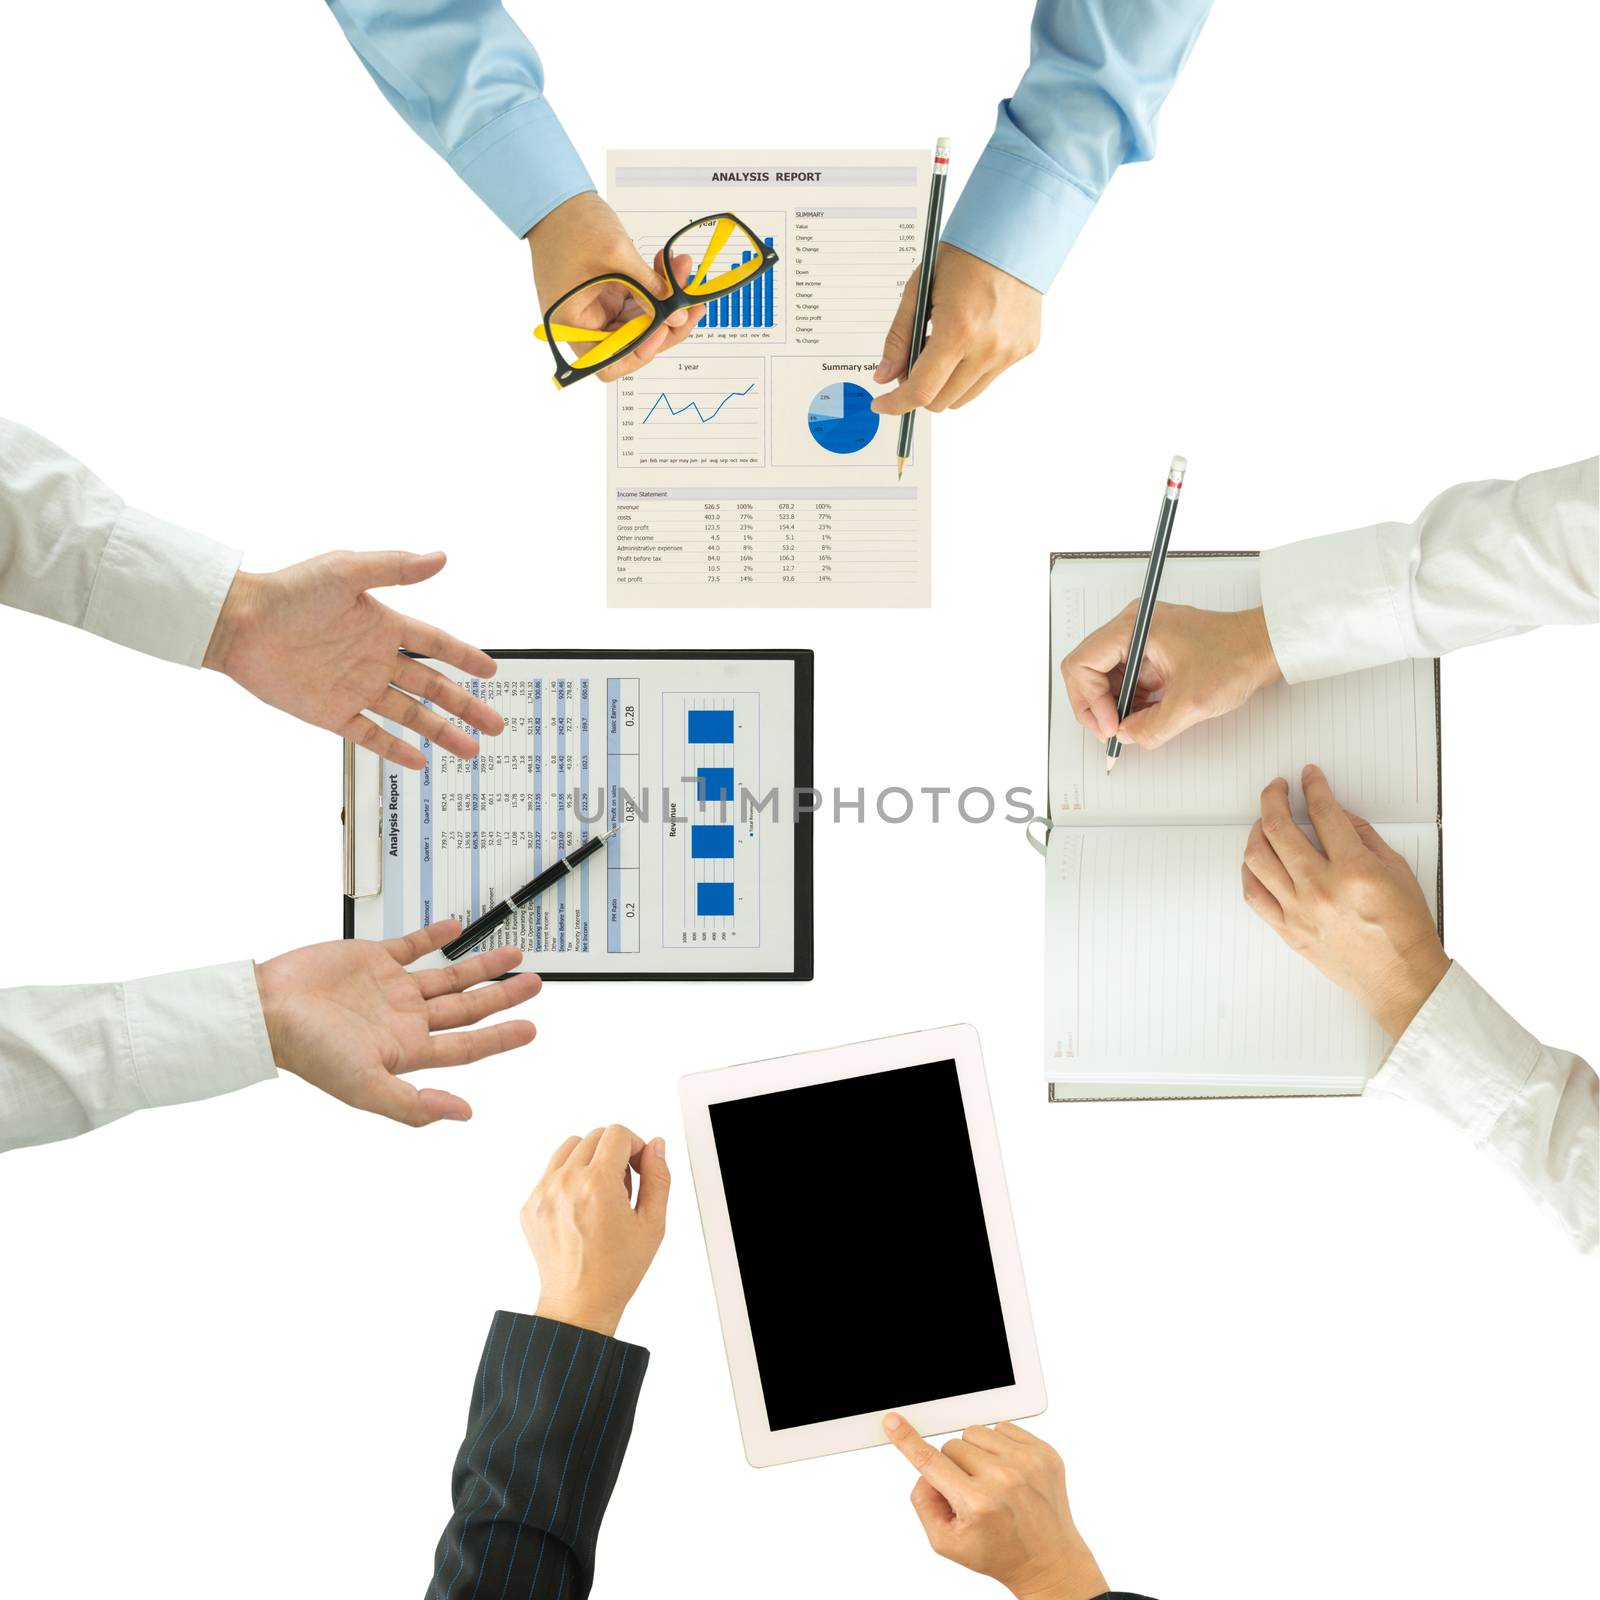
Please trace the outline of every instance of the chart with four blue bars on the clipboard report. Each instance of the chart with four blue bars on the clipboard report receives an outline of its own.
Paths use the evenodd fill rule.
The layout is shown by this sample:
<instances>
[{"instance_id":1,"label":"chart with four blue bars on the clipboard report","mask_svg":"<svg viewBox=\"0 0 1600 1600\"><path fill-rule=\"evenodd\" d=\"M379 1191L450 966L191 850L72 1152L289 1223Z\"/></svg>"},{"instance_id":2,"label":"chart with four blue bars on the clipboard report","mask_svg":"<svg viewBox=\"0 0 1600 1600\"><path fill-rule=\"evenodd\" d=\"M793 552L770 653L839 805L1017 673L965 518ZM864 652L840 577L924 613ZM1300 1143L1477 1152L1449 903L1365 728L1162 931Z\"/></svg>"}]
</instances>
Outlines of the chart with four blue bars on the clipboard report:
<instances>
[{"instance_id":1,"label":"chart with four blue bars on the clipboard report","mask_svg":"<svg viewBox=\"0 0 1600 1600\"><path fill-rule=\"evenodd\" d=\"M661 696L661 936L750 947L762 938L762 696Z\"/></svg>"}]
</instances>

